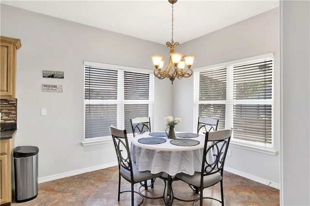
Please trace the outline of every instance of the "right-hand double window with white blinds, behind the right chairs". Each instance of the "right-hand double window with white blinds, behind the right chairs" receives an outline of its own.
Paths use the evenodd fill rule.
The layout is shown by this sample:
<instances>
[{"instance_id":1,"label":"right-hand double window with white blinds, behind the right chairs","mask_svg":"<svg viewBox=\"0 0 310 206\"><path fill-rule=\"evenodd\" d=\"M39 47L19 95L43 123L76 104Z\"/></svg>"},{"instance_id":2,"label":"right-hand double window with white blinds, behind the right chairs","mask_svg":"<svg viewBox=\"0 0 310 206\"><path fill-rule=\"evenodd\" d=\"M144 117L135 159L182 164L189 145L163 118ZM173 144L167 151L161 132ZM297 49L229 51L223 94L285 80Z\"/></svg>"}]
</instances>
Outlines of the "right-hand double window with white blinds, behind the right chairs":
<instances>
[{"instance_id":1,"label":"right-hand double window with white blinds, behind the right chairs","mask_svg":"<svg viewBox=\"0 0 310 206\"><path fill-rule=\"evenodd\" d=\"M195 121L217 118L218 129L233 128L233 141L272 147L273 56L266 56L196 72Z\"/></svg>"}]
</instances>

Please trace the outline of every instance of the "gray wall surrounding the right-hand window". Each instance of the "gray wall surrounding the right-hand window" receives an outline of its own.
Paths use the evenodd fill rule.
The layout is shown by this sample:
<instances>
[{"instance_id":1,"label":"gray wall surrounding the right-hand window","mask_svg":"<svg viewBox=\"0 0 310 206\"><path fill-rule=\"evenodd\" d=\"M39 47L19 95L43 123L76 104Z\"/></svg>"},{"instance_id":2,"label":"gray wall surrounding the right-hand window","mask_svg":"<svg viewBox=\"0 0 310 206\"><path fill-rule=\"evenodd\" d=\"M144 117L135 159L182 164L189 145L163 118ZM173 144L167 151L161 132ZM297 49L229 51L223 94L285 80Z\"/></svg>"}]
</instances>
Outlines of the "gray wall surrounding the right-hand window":
<instances>
[{"instance_id":1,"label":"gray wall surrounding the right-hand window","mask_svg":"<svg viewBox=\"0 0 310 206\"><path fill-rule=\"evenodd\" d=\"M225 168L236 174L279 188L279 7L180 45L180 52L196 55L195 68L274 53L274 150L269 155L230 145ZM183 119L184 131L195 131L193 78L173 84L173 114ZM186 99L184 99L186 96ZM184 109L186 108L186 109ZM181 126L181 125L180 125ZM178 126L179 127L179 126Z\"/></svg>"}]
</instances>

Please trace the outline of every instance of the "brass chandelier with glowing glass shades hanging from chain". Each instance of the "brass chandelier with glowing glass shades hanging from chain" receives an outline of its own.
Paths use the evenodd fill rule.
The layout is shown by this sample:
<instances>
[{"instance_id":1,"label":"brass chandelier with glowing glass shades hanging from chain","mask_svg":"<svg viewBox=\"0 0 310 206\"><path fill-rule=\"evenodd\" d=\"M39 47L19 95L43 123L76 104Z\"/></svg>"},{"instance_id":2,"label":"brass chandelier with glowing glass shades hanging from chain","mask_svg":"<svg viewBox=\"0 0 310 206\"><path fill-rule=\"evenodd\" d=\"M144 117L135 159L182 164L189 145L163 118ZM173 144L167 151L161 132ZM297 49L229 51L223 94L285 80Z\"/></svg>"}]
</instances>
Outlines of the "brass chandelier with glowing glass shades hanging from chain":
<instances>
[{"instance_id":1,"label":"brass chandelier with glowing glass shades hanging from chain","mask_svg":"<svg viewBox=\"0 0 310 206\"><path fill-rule=\"evenodd\" d=\"M178 79L182 79L182 77L190 77L193 74L193 71L190 67L193 65L193 61L195 56L194 55L185 55L181 53L174 52L174 47L178 46L178 42L173 41L173 4L176 3L177 0L168 0L169 3L172 4L172 31L171 31L171 42L167 42L167 47L170 48L170 57L168 64L165 69L164 66L164 56L162 55L152 55L151 58L153 59L153 64L155 66L154 75L158 79L169 78L171 80L171 84L175 77ZM185 66L187 67L186 69Z\"/></svg>"}]
</instances>

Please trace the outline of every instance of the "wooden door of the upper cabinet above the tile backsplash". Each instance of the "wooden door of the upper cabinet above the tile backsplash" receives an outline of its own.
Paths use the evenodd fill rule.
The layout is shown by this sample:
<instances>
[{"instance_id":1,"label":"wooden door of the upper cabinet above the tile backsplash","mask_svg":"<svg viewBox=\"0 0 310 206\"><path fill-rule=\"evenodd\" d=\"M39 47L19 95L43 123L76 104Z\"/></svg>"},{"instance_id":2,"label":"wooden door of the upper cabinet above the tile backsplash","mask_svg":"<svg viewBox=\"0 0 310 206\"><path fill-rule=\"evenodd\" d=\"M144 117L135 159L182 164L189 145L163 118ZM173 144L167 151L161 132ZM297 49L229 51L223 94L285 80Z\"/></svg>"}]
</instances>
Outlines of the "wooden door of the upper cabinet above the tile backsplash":
<instances>
[{"instance_id":1,"label":"wooden door of the upper cabinet above the tile backsplash","mask_svg":"<svg viewBox=\"0 0 310 206\"><path fill-rule=\"evenodd\" d=\"M1 42L0 96L15 98L15 61L13 44Z\"/></svg>"}]
</instances>

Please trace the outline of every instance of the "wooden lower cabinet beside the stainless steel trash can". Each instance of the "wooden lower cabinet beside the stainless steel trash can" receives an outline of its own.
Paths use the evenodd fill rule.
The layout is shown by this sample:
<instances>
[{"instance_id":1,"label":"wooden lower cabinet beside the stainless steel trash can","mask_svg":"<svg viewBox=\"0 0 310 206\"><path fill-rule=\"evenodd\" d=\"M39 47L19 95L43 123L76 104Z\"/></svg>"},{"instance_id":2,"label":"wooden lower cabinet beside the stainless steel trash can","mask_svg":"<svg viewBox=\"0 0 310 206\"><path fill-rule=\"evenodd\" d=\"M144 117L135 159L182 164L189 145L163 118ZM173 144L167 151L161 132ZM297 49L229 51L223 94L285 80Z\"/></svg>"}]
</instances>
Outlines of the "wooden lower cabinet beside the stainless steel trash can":
<instances>
[{"instance_id":1,"label":"wooden lower cabinet beside the stainless steel trash can","mask_svg":"<svg viewBox=\"0 0 310 206\"><path fill-rule=\"evenodd\" d=\"M0 204L10 205L12 201L11 162L13 138L1 139L0 142Z\"/></svg>"}]
</instances>

